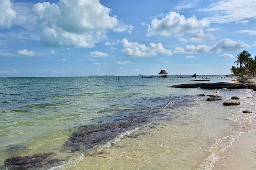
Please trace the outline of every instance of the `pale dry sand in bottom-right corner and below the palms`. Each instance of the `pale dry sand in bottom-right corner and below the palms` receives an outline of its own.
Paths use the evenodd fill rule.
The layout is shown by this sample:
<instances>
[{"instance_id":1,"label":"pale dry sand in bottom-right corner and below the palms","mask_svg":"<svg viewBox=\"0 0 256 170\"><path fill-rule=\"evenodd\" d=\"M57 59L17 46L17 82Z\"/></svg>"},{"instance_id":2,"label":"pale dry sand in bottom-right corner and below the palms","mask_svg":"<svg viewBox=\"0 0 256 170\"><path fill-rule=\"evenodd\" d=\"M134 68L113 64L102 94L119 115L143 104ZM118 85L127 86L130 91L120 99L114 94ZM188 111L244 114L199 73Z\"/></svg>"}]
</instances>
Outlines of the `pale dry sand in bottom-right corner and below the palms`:
<instances>
[{"instance_id":1,"label":"pale dry sand in bottom-right corner and below the palms","mask_svg":"<svg viewBox=\"0 0 256 170\"><path fill-rule=\"evenodd\" d=\"M238 82L253 86L256 85L256 77L238 79ZM242 133L219 157L213 170L255 170L256 131Z\"/></svg>"}]
</instances>

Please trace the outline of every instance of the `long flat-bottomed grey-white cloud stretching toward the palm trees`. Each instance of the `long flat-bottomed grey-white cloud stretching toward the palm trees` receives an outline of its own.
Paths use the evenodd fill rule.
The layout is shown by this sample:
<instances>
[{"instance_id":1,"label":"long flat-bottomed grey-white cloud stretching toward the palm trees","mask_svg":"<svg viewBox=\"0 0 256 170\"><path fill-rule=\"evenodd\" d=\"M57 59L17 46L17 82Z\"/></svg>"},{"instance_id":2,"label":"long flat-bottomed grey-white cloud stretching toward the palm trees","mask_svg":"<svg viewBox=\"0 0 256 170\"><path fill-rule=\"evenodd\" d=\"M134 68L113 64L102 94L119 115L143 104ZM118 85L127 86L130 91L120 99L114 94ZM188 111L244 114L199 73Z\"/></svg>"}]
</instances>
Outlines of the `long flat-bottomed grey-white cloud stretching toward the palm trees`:
<instances>
[{"instance_id":1,"label":"long flat-bottomed grey-white cloud stretching toward the palm trees","mask_svg":"<svg viewBox=\"0 0 256 170\"><path fill-rule=\"evenodd\" d=\"M221 52L222 50L235 51L248 48L248 44L243 41L232 41L231 39L222 39L213 46L206 45L187 45L186 50L182 47L176 47L174 53L205 53L205 52Z\"/></svg>"}]
</instances>

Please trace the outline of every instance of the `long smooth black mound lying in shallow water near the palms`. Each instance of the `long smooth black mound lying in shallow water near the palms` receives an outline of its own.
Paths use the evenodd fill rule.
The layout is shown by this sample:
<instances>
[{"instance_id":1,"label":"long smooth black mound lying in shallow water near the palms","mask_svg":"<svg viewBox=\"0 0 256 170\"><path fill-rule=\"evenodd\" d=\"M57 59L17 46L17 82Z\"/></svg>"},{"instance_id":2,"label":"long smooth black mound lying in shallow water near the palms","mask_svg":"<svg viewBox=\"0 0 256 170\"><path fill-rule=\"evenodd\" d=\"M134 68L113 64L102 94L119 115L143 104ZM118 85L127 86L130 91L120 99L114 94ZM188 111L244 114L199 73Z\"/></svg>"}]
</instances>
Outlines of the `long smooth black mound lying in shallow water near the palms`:
<instances>
[{"instance_id":1,"label":"long smooth black mound lying in shallow water near the palms","mask_svg":"<svg viewBox=\"0 0 256 170\"><path fill-rule=\"evenodd\" d=\"M245 89L247 85L239 84L239 83L227 83L227 82L220 82L220 83L190 83L190 84L180 84L180 85L172 85L170 87L177 87L177 88L202 88L202 89Z\"/></svg>"}]
</instances>

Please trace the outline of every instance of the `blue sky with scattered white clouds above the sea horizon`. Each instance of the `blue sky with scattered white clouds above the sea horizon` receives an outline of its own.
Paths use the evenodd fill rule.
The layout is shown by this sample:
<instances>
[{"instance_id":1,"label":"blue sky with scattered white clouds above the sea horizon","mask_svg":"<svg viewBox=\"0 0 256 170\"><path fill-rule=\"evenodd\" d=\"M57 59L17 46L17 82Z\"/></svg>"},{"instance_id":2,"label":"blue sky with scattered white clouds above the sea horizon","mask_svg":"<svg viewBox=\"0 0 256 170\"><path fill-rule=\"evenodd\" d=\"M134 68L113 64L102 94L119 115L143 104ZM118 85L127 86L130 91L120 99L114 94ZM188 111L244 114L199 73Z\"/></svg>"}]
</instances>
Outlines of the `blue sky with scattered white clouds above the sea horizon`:
<instances>
[{"instance_id":1,"label":"blue sky with scattered white clouds above the sea horizon","mask_svg":"<svg viewBox=\"0 0 256 170\"><path fill-rule=\"evenodd\" d=\"M256 0L1 0L0 77L231 74Z\"/></svg>"}]
</instances>

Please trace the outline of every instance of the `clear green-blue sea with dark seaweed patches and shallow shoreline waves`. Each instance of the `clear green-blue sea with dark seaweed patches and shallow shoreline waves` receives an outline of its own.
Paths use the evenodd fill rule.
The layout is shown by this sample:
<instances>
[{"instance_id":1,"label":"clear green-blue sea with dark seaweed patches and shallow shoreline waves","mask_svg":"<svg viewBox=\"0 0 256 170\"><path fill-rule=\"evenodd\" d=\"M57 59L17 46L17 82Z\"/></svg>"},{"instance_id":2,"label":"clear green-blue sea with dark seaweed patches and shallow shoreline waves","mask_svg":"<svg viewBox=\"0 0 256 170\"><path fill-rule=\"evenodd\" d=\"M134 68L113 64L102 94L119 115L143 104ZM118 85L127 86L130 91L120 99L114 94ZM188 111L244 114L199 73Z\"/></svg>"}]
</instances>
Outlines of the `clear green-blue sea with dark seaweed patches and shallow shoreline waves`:
<instances>
[{"instance_id":1,"label":"clear green-blue sea with dark seaweed patches and shallow shoreline waves","mask_svg":"<svg viewBox=\"0 0 256 170\"><path fill-rule=\"evenodd\" d=\"M236 138L256 131L256 92L170 87L198 79L236 80L0 78L0 169L211 170ZM232 96L240 105L223 106Z\"/></svg>"}]
</instances>

